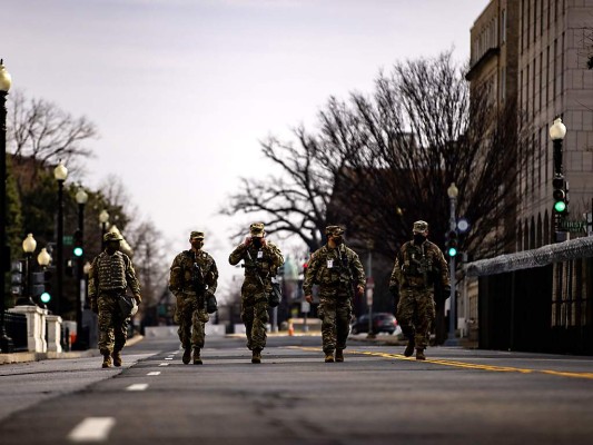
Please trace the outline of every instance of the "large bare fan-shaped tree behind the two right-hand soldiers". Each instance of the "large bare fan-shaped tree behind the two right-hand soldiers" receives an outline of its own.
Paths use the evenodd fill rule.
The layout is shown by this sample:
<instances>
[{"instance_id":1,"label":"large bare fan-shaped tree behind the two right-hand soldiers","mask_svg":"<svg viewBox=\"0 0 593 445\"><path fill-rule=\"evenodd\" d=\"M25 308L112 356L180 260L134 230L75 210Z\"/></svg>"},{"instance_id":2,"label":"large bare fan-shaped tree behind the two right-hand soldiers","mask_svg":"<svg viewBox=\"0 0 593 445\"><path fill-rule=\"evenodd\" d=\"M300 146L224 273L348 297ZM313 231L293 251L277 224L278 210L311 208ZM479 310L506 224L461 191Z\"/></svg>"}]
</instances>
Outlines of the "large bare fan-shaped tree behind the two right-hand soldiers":
<instances>
[{"instance_id":1,"label":"large bare fan-shaped tree behind the two right-hand soldiers","mask_svg":"<svg viewBox=\"0 0 593 445\"><path fill-rule=\"evenodd\" d=\"M494 254L514 237L514 227L501 226L517 202L517 115L501 111L486 90L471 100L449 53L396 63L378 77L373 97L333 99L320 118L324 165L342 197L328 215L364 230L378 253L393 255L416 219L428 220L442 245L452 182L459 190L457 216L473 225L466 249L480 245ZM346 165L334 166L334 157Z\"/></svg>"}]
</instances>

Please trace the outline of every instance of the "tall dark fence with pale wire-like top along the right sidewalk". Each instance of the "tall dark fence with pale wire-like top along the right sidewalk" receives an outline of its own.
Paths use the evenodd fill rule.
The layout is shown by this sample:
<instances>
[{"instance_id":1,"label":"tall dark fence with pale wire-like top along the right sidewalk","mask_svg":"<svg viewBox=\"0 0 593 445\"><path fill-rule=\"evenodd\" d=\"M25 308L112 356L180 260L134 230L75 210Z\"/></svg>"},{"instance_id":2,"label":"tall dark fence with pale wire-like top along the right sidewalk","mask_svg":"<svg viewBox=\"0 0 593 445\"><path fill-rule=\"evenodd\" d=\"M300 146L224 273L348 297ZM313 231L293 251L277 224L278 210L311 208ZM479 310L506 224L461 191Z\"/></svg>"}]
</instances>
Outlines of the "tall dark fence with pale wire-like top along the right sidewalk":
<instances>
[{"instance_id":1,"label":"tall dark fence with pale wire-like top along the right sidewalk","mask_svg":"<svg viewBox=\"0 0 593 445\"><path fill-rule=\"evenodd\" d=\"M478 346L593 355L593 237L467 265Z\"/></svg>"}]
</instances>

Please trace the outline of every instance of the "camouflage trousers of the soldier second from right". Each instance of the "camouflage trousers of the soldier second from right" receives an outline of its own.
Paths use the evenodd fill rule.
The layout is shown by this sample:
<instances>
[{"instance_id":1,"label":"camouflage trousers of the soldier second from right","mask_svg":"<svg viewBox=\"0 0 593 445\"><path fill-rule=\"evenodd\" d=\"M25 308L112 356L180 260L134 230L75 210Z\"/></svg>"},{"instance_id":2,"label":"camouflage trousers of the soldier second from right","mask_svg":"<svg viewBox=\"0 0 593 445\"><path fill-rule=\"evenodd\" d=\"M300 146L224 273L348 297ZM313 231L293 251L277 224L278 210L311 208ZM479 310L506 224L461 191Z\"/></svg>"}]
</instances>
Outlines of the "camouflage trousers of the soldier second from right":
<instances>
[{"instance_id":1,"label":"camouflage trousers of the soldier second from right","mask_svg":"<svg viewBox=\"0 0 593 445\"><path fill-rule=\"evenodd\" d=\"M346 348L350 333L352 304L347 295L319 296L318 315L322 319L322 342L326 354Z\"/></svg>"}]
</instances>

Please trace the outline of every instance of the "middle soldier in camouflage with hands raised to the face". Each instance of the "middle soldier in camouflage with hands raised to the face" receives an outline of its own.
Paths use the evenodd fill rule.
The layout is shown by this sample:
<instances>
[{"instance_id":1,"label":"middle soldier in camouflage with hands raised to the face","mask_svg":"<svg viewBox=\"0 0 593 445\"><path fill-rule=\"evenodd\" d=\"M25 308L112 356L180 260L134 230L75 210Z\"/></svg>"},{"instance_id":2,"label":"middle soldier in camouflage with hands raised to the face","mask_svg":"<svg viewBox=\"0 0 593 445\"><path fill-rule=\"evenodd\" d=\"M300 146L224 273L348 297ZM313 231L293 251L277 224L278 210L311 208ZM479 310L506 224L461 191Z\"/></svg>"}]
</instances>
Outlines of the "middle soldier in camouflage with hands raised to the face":
<instances>
[{"instance_id":1,"label":"middle soldier in camouflage with hands raised to the face","mask_svg":"<svg viewBox=\"0 0 593 445\"><path fill-rule=\"evenodd\" d=\"M245 265L245 280L241 287L241 319L247 335L247 347L253 352L251 363L261 363L261 349L266 347L266 324L268 297L271 293L271 277L284 264L280 249L266 240L263 222L249 226L245 241L230 254L228 261L235 266L241 259Z\"/></svg>"}]
</instances>

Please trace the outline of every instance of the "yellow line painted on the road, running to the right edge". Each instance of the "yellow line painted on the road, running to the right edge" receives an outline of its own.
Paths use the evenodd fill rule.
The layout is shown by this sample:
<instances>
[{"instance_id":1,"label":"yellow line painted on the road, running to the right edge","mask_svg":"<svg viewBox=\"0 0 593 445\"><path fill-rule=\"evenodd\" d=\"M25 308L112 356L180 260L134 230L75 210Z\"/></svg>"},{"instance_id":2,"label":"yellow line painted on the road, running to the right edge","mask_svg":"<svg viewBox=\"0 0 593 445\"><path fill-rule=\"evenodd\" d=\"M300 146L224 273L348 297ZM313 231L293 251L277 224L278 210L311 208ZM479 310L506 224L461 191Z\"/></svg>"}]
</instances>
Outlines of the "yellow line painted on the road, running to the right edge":
<instances>
[{"instance_id":1,"label":"yellow line painted on the road, running to the right edge","mask_svg":"<svg viewBox=\"0 0 593 445\"><path fill-rule=\"evenodd\" d=\"M305 346L290 346L290 348L302 349L302 350L319 352L319 348L305 347ZM416 362L416 358L406 357L406 356L404 356L402 354L373 353L373 352L367 352L367 350L354 350L354 349L346 349L344 352L348 353L348 354L368 355L368 356L373 356L373 357L396 358L398 360L413 360L413 362ZM434 363L435 365L453 366L453 367L466 368L466 369L491 370L491 372L496 372L496 373L548 374L548 375L555 375L555 376L560 376L560 377L593 379L593 373L574 373L574 372L569 372L569 370L552 370L552 369L530 369L530 368L518 368L518 367L514 367L514 366L481 365L481 364L477 364L477 363L444 360L444 359L431 359L431 358L427 358L426 360L424 360L422 363Z\"/></svg>"}]
</instances>

